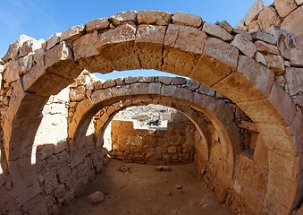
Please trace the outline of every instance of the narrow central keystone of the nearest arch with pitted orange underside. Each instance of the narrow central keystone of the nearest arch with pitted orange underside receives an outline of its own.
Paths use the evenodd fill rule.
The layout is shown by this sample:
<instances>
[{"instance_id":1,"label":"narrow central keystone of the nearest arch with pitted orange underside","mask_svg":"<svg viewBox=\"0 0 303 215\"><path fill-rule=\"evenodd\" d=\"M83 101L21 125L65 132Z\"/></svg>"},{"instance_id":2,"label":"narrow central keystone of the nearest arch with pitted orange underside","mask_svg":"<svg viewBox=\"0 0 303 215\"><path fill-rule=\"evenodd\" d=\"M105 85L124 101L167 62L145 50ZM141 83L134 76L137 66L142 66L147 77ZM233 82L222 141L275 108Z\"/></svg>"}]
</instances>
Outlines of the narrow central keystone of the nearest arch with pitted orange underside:
<instances>
[{"instance_id":1,"label":"narrow central keystone of the nearest arch with pitted orange underside","mask_svg":"<svg viewBox=\"0 0 303 215\"><path fill-rule=\"evenodd\" d=\"M161 70L165 30L164 26L139 25L135 44L141 68Z\"/></svg>"}]
</instances>

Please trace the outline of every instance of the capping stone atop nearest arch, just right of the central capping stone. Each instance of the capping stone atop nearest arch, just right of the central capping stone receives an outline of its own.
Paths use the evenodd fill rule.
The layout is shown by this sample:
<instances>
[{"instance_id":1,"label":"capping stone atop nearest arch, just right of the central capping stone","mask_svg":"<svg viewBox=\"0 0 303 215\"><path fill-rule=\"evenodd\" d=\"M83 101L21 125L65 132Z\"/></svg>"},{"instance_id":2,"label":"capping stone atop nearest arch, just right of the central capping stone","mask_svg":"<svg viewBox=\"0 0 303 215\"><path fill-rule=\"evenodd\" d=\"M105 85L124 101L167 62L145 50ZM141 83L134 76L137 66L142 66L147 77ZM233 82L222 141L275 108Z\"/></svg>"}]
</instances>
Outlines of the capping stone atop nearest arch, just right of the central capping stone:
<instances>
[{"instance_id":1,"label":"capping stone atop nearest arch, just right of the central capping stone","mask_svg":"<svg viewBox=\"0 0 303 215\"><path fill-rule=\"evenodd\" d=\"M202 18L189 13L176 12L173 14L173 24L181 24L198 28L202 24Z\"/></svg>"}]
</instances>

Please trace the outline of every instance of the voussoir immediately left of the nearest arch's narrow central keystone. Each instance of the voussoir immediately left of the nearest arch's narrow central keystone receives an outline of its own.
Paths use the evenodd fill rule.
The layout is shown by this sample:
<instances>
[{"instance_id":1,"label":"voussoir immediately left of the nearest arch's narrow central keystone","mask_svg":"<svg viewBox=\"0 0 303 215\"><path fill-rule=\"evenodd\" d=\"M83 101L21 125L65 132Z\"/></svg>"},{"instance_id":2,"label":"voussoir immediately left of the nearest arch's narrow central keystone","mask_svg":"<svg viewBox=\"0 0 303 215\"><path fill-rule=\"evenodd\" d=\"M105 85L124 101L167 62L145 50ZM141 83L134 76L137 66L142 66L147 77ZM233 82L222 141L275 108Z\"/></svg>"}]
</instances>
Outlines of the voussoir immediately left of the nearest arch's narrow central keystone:
<instances>
[{"instance_id":1,"label":"voussoir immediately left of the nearest arch's narrow central keystone","mask_svg":"<svg viewBox=\"0 0 303 215\"><path fill-rule=\"evenodd\" d=\"M97 50L114 70L140 69L135 39L135 27L129 24L120 25L100 34Z\"/></svg>"}]
</instances>

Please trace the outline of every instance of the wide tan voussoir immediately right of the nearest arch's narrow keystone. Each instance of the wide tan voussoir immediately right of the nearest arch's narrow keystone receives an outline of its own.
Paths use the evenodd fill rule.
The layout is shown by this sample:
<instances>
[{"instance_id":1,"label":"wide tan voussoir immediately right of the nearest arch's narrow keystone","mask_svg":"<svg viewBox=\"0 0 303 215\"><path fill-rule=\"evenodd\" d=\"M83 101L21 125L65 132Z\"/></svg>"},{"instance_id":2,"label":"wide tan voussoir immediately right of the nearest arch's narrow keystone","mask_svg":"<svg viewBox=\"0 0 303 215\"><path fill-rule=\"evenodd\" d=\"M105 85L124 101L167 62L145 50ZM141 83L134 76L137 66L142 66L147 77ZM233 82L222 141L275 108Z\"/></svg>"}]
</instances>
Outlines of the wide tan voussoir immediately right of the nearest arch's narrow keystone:
<instances>
[{"instance_id":1,"label":"wide tan voussoir immediately right of the nearest arch's narrow keystone","mask_svg":"<svg viewBox=\"0 0 303 215\"><path fill-rule=\"evenodd\" d=\"M178 25L169 25L164 39L162 71L188 76L203 53L206 33Z\"/></svg>"}]
</instances>

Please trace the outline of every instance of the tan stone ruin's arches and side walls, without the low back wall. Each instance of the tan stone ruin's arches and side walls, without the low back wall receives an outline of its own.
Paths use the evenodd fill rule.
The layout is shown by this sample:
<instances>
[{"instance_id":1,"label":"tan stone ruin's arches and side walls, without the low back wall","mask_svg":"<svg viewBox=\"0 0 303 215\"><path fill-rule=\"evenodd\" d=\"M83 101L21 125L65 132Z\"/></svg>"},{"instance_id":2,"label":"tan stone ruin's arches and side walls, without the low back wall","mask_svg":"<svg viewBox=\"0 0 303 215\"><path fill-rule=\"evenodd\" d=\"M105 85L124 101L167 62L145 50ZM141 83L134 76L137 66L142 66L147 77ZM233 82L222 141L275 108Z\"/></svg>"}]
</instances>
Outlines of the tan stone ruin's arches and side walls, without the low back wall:
<instances>
[{"instance_id":1,"label":"tan stone ruin's arches and side walls, without the low back wall","mask_svg":"<svg viewBox=\"0 0 303 215\"><path fill-rule=\"evenodd\" d=\"M236 28L130 11L46 42L21 36L0 65L0 214L58 214L105 169L114 115L147 104L189 118L198 171L232 211L302 214L302 4L257 0ZM88 72L133 69L192 81Z\"/></svg>"}]
</instances>

